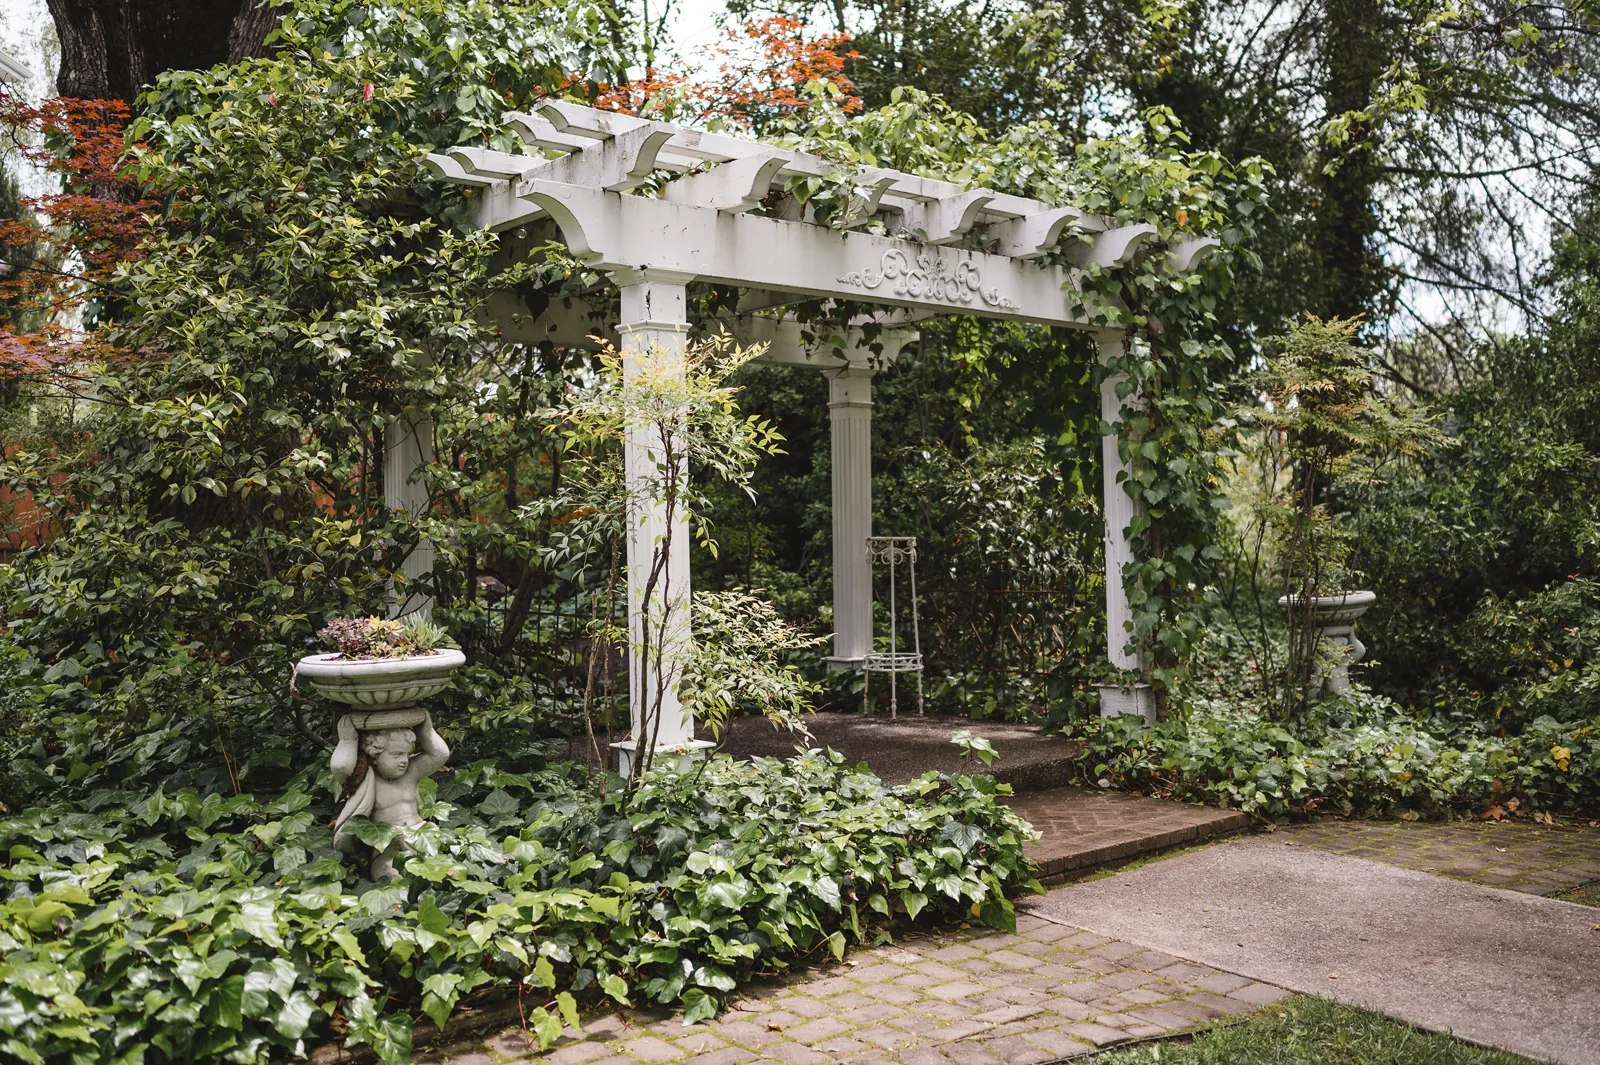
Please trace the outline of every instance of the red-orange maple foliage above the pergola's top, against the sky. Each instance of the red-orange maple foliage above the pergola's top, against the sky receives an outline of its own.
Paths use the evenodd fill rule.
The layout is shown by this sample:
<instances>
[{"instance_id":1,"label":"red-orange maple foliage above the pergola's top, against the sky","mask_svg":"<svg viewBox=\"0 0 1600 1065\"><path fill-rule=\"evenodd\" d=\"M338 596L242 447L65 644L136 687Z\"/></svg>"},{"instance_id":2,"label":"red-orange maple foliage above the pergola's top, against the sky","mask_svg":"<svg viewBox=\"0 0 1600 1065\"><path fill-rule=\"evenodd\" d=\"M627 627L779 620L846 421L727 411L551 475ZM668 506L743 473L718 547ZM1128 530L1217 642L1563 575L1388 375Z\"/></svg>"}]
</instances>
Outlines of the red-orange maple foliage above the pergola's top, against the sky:
<instances>
[{"instance_id":1,"label":"red-orange maple foliage above the pergola's top, against the sky","mask_svg":"<svg viewBox=\"0 0 1600 1065\"><path fill-rule=\"evenodd\" d=\"M602 86L595 106L680 122L722 118L749 130L776 115L805 110L816 102L806 86L829 83L835 104L859 110L861 98L845 77L845 61L861 54L843 51L848 43L845 34L808 38L800 19L771 16L728 29L698 69L650 67L626 85Z\"/></svg>"}]
</instances>

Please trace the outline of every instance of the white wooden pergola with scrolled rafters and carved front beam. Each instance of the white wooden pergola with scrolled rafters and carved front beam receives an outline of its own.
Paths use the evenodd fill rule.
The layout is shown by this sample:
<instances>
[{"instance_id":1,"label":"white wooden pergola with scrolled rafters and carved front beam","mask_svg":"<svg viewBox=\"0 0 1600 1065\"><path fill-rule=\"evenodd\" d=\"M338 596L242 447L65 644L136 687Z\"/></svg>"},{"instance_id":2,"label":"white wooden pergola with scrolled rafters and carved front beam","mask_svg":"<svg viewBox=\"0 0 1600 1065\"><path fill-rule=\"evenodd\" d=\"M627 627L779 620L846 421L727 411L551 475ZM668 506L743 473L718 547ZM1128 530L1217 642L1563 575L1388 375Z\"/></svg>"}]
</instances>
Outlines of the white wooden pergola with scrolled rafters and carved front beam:
<instances>
[{"instance_id":1,"label":"white wooden pergola with scrolled rafters and carved front beam","mask_svg":"<svg viewBox=\"0 0 1600 1065\"><path fill-rule=\"evenodd\" d=\"M741 344L763 342L768 361L811 366L827 376L834 459L829 662L838 668L858 667L872 643L866 552L872 534L872 376L915 341L912 326L934 317L979 315L1091 329L1102 360L1120 357L1123 333L1094 325L1104 318L1096 313L1096 297L1080 286L1083 269L1155 254L1178 275L1195 269L1218 245L1192 238L1157 246L1152 225L1118 227L1074 206L893 170L850 174L861 190L851 211L856 225L838 229L816 224L808 208L784 195L792 178L840 174L838 165L814 155L562 101L541 104L538 114L507 114L506 123L528 154L456 147L429 155L426 165L445 181L478 190L480 225L515 230L547 219L578 259L611 278L621 294L621 317L614 329L603 333L614 333L624 368L651 352L682 352L694 325L686 288L714 281L738 286L738 312L699 328L731 333ZM765 213L754 213L763 205ZM870 217L882 219L893 235L862 232ZM1069 265L1038 262L1058 246L1067 249ZM843 334L842 353L835 341L808 342L806 326L784 313L787 304L819 297L877 307L870 318L858 318L843 331L819 329ZM515 299L501 297L491 312L512 341L592 345L587 337L597 333L590 309L581 304L533 317ZM869 350L869 333L877 352ZM1101 384L1102 417L1110 424L1123 416L1117 384L1115 376ZM402 470L414 469L426 441L414 421L397 425L387 448L392 475L386 483L390 505L410 509L422 501ZM1122 485L1126 467L1115 435L1104 437L1102 457L1107 654L1120 670L1138 670L1141 660L1126 648L1130 611L1122 582L1131 560L1126 529L1134 502ZM658 513L642 513L630 526L629 588L637 616L643 609L640 572L662 529ZM670 595L686 603L688 529L677 529L672 542ZM408 569L426 571L430 564L422 555ZM669 648L650 668L677 678L674 654ZM634 742L624 747L637 752L642 736L648 736L640 712L646 678L637 657L634 667ZM1154 718L1154 702L1144 686L1107 688L1101 712ZM694 723L675 691L656 734L659 747L693 744Z\"/></svg>"}]
</instances>

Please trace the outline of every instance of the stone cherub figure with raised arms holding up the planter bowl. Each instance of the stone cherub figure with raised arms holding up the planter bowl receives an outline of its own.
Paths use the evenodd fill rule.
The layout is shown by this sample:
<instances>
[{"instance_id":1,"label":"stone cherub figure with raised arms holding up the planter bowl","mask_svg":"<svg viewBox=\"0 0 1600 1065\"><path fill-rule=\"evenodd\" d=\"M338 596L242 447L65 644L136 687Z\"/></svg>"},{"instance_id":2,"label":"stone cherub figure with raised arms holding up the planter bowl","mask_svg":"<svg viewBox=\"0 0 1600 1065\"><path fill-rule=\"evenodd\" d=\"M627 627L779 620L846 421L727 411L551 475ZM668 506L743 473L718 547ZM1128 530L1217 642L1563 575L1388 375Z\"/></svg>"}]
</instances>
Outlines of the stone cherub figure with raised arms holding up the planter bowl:
<instances>
[{"instance_id":1,"label":"stone cherub figure with raised arms holding up the planter bowl","mask_svg":"<svg viewBox=\"0 0 1600 1065\"><path fill-rule=\"evenodd\" d=\"M333 822L333 846L346 854L350 854L357 843L344 832L344 824L352 817L368 817L381 825L422 824L422 817L416 812L416 785L450 758L450 747L434 731L434 718L427 712L414 731L410 728L360 731L355 716L346 713L339 718L339 745L330 764L334 784L344 790L344 782L355 772L358 755L365 753L368 763L366 774ZM371 878L394 880L398 875L395 857L403 852L405 841L397 838L382 852L374 854Z\"/></svg>"}]
</instances>

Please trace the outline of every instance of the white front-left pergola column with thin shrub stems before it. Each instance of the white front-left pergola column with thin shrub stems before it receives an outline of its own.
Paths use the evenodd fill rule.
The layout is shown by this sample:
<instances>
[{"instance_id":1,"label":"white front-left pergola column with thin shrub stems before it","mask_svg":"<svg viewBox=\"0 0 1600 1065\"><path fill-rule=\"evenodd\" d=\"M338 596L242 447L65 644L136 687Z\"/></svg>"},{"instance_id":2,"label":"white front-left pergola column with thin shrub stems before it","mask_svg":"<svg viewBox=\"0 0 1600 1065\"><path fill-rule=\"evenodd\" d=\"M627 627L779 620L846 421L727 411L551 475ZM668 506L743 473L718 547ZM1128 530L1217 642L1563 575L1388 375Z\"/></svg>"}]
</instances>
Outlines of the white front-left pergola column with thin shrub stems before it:
<instances>
[{"instance_id":1,"label":"white front-left pergola column with thin shrub stems before it","mask_svg":"<svg viewBox=\"0 0 1600 1065\"><path fill-rule=\"evenodd\" d=\"M645 373L682 377L688 345L690 275L666 270L618 270L613 275L622 297L618 323L624 381ZM683 753L702 747L694 740L694 721L683 708L678 684L690 648L690 523L677 504L656 496L661 481L688 478L677 459L666 470L658 425L629 429L624 448L627 481L627 617L629 617L629 712L632 739L616 744L621 771L650 750Z\"/></svg>"}]
</instances>

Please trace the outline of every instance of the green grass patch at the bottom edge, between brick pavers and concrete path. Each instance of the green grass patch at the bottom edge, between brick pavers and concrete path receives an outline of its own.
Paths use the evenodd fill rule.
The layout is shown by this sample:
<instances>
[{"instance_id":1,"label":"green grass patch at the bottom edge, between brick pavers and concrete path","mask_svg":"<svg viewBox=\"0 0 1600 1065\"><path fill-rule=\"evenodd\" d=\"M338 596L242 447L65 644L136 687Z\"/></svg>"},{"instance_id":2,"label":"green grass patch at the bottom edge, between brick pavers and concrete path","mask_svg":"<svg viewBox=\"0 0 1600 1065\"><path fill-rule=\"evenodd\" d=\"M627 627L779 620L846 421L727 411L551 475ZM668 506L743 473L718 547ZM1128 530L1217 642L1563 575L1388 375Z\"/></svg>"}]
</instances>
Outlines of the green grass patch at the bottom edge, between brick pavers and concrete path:
<instances>
[{"instance_id":1,"label":"green grass patch at the bottom edge, between brick pavers and concrete path","mask_svg":"<svg viewBox=\"0 0 1600 1065\"><path fill-rule=\"evenodd\" d=\"M1534 1065L1325 998L1285 999L1192 1043L1149 1043L1094 1065Z\"/></svg>"}]
</instances>

